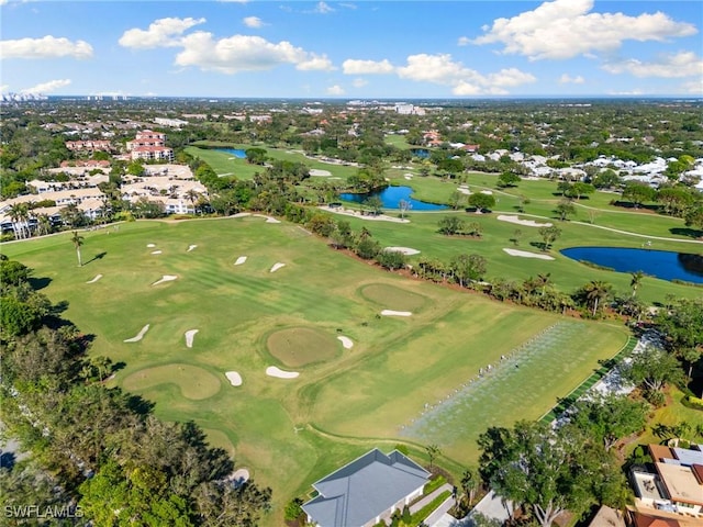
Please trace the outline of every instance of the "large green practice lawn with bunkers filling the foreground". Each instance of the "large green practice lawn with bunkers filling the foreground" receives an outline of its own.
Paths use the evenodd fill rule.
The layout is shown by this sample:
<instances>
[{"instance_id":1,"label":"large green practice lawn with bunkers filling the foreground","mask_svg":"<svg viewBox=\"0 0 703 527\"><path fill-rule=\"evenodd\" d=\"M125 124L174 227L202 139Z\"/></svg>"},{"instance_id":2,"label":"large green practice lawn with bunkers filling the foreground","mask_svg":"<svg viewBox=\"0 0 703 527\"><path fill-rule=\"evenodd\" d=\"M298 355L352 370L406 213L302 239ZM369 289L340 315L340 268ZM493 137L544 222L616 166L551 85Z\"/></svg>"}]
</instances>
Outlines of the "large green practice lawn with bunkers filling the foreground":
<instances>
[{"instance_id":1,"label":"large green practice lawn with bunkers filling the foreground","mask_svg":"<svg viewBox=\"0 0 703 527\"><path fill-rule=\"evenodd\" d=\"M427 223L411 224L417 232L406 238L398 234L402 228L393 234L377 231L380 225L369 226L380 239L403 242L393 245L434 239ZM81 234L80 268L69 233L8 244L2 251L49 279L43 292L54 302L66 300L65 316L96 335L91 354L124 362L116 385L156 402L164 419L196 421L214 445L234 451L238 466L274 489L269 525L280 525L291 497L372 446L390 450L403 442L424 459L423 446L437 442L443 464L460 473L461 466L476 463L480 431L538 418L626 339L621 327L382 271L284 222L154 221ZM437 247L444 243L439 238ZM197 248L188 251L190 245ZM234 266L241 256L246 262ZM270 272L276 262L286 267ZM505 258L505 271L516 264L523 261ZM102 278L87 283L97 274ZM152 285L165 274L178 278ZM412 316L380 316L383 309ZM146 324L142 340L124 343ZM560 324L572 333L544 340L538 352L524 347ZM294 338L287 333L292 328L300 329ZM192 329L199 333L189 348L183 336ZM343 347L338 336L354 347ZM324 352L294 349L306 343L323 343ZM265 373L268 366L291 370L293 355L299 378ZM471 396L458 393L479 368L498 366L501 355L523 362L496 368ZM227 371L239 372L243 384L232 386ZM425 403L447 396L464 410L437 414L434 428L409 428Z\"/></svg>"}]
</instances>

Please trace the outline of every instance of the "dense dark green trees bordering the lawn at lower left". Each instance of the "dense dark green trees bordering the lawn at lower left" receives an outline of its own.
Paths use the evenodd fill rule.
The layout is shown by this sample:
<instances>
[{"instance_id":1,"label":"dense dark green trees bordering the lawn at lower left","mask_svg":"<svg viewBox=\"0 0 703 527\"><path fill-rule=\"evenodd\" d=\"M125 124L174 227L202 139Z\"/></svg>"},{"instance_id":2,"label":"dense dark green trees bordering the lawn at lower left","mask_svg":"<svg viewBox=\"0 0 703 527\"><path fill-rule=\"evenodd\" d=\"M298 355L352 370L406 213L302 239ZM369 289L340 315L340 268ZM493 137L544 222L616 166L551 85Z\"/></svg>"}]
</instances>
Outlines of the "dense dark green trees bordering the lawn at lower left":
<instances>
[{"instance_id":1,"label":"dense dark green trees bordering the lawn at lower left","mask_svg":"<svg viewBox=\"0 0 703 527\"><path fill-rule=\"evenodd\" d=\"M94 336L63 318L66 304L37 282L0 260L3 433L31 453L0 469L5 506L60 506L96 526L257 525L270 490L234 485L233 461L194 423L161 422L148 401L108 388L124 365L89 355Z\"/></svg>"}]
</instances>

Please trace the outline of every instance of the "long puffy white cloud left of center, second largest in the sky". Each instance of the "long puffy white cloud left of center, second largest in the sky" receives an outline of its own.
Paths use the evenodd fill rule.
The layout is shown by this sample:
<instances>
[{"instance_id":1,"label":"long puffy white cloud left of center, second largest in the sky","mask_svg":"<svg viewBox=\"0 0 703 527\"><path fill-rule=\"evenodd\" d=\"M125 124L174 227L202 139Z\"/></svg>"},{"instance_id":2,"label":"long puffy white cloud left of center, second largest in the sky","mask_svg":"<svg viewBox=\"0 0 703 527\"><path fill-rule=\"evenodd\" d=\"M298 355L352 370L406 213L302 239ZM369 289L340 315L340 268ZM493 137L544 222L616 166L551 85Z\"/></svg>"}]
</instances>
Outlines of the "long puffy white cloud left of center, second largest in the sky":
<instances>
[{"instance_id":1,"label":"long puffy white cloud left of center, second largest in the sky","mask_svg":"<svg viewBox=\"0 0 703 527\"><path fill-rule=\"evenodd\" d=\"M212 33L196 32L181 40L183 49L176 56L177 66L196 66L207 71L236 74L271 69L292 64L298 69L331 69L326 56L317 56L293 46L290 42L277 44L260 36L234 35L213 40Z\"/></svg>"}]
</instances>

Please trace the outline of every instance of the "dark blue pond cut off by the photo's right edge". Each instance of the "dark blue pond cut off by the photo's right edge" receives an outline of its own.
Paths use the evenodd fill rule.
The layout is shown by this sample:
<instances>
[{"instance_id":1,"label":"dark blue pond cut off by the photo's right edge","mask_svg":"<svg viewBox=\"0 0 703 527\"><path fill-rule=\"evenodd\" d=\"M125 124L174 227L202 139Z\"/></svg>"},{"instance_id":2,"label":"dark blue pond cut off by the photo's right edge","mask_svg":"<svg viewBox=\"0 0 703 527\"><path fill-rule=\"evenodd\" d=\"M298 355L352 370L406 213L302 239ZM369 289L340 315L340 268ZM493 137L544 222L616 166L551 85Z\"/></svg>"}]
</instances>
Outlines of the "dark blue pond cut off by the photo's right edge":
<instances>
[{"instance_id":1,"label":"dark blue pond cut off by the photo's right edge","mask_svg":"<svg viewBox=\"0 0 703 527\"><path fill-rule=\"evenodd\" d=\"M561 254L618 272L641 271L662 280L703 283L703 255L625 247L571 247Z\"/></svg>"}]
</instances>

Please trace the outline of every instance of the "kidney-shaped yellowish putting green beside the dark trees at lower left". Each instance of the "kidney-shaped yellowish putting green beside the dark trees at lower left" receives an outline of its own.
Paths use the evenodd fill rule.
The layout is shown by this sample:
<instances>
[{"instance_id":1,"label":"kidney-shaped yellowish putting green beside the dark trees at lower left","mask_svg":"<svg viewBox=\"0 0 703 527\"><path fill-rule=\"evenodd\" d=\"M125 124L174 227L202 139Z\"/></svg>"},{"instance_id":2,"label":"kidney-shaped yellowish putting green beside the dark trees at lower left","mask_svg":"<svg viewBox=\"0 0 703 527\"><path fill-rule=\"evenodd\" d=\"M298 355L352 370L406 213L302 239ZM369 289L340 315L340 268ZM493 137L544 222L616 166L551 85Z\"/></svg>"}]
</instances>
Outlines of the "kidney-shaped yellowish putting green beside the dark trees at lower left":
<instances>
[{"instance_id":1,"label":"kidney-shaped yellowish putting green beside the dark trees at lower left","mask_svg":"<svg viewBox=\"0 0 703 527\"><path fill-rule=\"evenodd\" d=\"M201 401L220 391L221 383L212 373L190 365L166 365L132 373L122 385L127 391L141 392L160 384L176 384L186 399Z\"/></svg>"}]
</instances>

